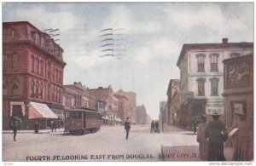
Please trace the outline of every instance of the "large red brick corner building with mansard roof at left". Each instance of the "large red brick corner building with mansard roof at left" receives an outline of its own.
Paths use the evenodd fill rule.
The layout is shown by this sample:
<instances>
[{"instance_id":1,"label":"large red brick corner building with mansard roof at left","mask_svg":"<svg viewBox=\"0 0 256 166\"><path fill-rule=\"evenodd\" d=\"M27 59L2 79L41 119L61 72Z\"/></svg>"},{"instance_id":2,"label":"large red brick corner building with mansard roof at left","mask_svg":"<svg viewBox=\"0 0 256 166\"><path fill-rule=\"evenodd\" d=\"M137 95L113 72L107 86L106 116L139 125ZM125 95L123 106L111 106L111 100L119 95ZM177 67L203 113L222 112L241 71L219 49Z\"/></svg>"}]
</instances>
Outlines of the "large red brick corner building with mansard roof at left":
<instances>
[{"instance_id":1,"label":"large red brick corner building with mansard roof at left","mask_svg":"<svg viewBox=\"0 0 256 166\"><path fill-rule=\"evenodd\" d=\"M30 101L61 112L66 66L62 53L53 38L30 22L3 22L3 129L10 128L13 117L25 129L33 128L32 119L37 116L32 113L37 110Z\"/></svg>"}]
</instances>

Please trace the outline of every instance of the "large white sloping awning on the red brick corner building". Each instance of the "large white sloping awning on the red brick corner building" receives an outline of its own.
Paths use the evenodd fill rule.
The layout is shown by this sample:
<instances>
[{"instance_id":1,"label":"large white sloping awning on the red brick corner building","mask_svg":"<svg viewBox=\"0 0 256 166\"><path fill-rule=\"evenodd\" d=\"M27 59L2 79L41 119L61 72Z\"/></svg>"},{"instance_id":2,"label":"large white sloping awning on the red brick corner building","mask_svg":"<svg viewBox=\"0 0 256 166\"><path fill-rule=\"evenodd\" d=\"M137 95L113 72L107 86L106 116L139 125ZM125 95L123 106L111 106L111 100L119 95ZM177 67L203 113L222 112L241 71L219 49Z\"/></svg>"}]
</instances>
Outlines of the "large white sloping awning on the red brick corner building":
<instances>
[{"instance_id":1,"label":"large white sloping awning on the red brick corner building","mask_svg":"<svg viewBox=\"0 0 256 166\"><path fill-rule=\"evenodd\" d=\"M58 118L46 104L30 101L28 118Z\"/></svg>"}]
</instances>

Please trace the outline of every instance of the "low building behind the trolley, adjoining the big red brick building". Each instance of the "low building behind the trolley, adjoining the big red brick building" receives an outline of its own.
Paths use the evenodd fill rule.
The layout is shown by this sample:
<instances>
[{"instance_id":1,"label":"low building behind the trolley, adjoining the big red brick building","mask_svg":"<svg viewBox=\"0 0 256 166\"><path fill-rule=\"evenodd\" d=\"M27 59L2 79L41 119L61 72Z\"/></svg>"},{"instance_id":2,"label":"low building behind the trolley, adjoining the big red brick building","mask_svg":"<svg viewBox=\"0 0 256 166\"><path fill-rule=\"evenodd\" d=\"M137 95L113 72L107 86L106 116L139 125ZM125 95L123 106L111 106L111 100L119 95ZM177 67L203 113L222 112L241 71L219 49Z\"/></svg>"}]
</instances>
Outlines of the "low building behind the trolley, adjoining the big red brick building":
<instances>
[{"instance_id":1,"label":"low building behind the trolley, adjoining the big red brick building","mask_svg":"<svg viewBox=\"0 0 256 166\"><path fill-rule=\"evenodd\" d=\"M96 109L96 95L81 82L64 85L63 105L67 108L81 107L92 111Z\"/></svg>"}]
</instances>

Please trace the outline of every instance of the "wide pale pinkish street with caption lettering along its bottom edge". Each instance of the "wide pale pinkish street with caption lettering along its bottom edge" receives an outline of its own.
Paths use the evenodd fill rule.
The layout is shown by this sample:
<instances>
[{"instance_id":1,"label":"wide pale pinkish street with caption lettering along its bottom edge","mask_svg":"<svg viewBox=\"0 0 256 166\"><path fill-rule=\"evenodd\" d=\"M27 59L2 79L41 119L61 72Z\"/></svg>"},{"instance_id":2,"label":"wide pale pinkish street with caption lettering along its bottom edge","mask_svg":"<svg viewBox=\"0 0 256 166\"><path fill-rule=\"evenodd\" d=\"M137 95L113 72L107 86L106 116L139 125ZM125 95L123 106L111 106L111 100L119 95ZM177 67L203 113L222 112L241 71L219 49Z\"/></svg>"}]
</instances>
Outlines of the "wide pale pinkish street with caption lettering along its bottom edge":
<instances>
[{"instance_id":1,"label":"wide pale pinkish street with caption lettering along its bottom edge","mask_svg":"<svg viewBox=\"0 0 256 166\"><path fill-rule=\"evenodd\" d=\"M190 131L149 131L149 125L132 125L129 140L123 126L102 127L89 135L20 131L17 141L11 132L3 132L3 161L161 161L161 146L198 146Z\"/></svg>"}]
</instances>

